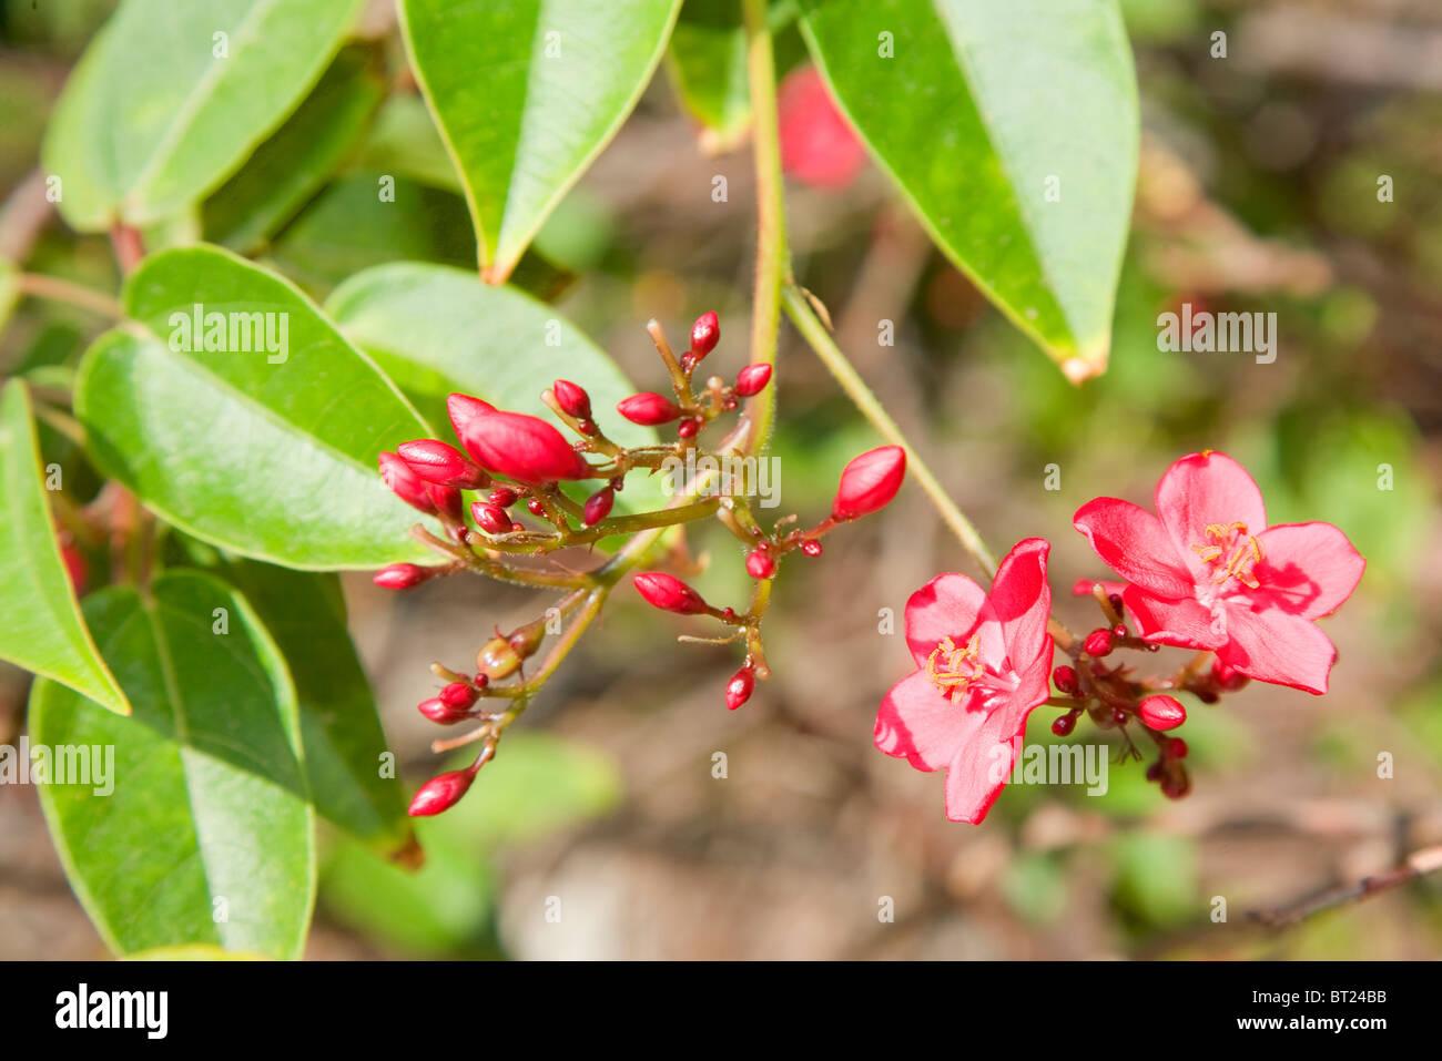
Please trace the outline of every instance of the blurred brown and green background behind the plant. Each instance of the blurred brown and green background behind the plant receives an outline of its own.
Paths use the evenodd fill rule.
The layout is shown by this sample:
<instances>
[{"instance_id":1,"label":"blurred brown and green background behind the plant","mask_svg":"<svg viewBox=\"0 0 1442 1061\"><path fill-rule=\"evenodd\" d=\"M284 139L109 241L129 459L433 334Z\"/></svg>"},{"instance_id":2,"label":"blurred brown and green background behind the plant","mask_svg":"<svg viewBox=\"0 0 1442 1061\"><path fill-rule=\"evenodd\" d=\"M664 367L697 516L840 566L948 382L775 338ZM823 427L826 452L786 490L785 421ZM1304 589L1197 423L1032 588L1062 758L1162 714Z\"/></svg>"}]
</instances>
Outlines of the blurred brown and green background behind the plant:
<instances>
[{"instance_id":1,"label":"blurred brown and green background behind the plant","mask_svg":"<svg viewBox=\"0 0 1442 1061\"><path fill-rule=\"evenodd\" d=\"M7 200L37 180L48 112L111 7L0 4ZM311 957L1442 951L1438 879L1285 930L1249 917L1442 843L1442 6L1123 7L1145 133L1106 376L1082 389L1066 383L930 247L870 166L826 174L822 186L815 174L789 185L797 277L831 308L841 346L992 549L1051 539L1056 611L1073 629L1094 626L1096 610L1070 595L1071 584L1105 572L1071 530L1071 513L1096 494L1146 503L1184 453L1210 447L1242 460L1273 522L1341 526L1368 568L1353 601L1324 623L1341 653L1331 693L1253 685L1216 706L1190 699L1181 734L1194 790L1178 803L1144 780L1145 764L1115 763L1105 797L1012 786L983 826L950 825L940 774L871 747L877 702L910 670L903 640L878 631L883 610L900 616L939 571L978 574L908 489L880 516L828 538L823 558L787 565L766 624L774 679L738 712L722 702L737 666L731 649L676 644L686 631L679 620L617 594L472 796L423 823L421 874L327 845ZM1211 55L1218 30L1226 59ZM795 30L779 58L803 63ZM385 98L345 170L252 252L316 294L388 259L473 265L464 203L404 69L388 4L372 6L342 61L371 63ZM750 166L744 143L728 150L698 137L663 68L547 225L523 283L642 386L658 378L646 319L681 334L717 308L724 337L712 359L733 372L747 356ZM398 174L415 195L376 209L375 172ZM718 174L722 203L711 195ZM1379 200L1383 176L1390 202ZM225 232L238 195L222 189L203 216L164 238ZM118 285L105 241L59 222L29 235L33 270ZM1275 311L1276 362L1159 352L1158 314L1188 301ZM894 346L878 343L881 321L894 323ZM63 373L102 326L26 301L0 337L0 370ZM539 386L555 372L535 356ZM877 440L784 321L779 379L773 515L819 518L841 466ZM42 444L66 456L53 431ZM1058 490L1047 489L1048 466ZM733 539L705 530L689 545L708 562L702 592L744 601ZM420 781L437 768L433 728L414 711L431 695L427 663L466 666L493 624L510 629L548 600L479 580L397 598L355 575L346 590L386 732L408 781ZM1169 669L1184 657L1154 659ZM23 675L0 673L0 742L23 731L25 696ZM1030 740L1053 740L1051 715L1038 709ZM1105 737L1083 719L1073 740ZM1379 777L1383 754L1390 777ZM1226 923L1211 917L1216 897ZM0 787L0 957L102 953L33 790Z\"/></svg>"}]
</instances>

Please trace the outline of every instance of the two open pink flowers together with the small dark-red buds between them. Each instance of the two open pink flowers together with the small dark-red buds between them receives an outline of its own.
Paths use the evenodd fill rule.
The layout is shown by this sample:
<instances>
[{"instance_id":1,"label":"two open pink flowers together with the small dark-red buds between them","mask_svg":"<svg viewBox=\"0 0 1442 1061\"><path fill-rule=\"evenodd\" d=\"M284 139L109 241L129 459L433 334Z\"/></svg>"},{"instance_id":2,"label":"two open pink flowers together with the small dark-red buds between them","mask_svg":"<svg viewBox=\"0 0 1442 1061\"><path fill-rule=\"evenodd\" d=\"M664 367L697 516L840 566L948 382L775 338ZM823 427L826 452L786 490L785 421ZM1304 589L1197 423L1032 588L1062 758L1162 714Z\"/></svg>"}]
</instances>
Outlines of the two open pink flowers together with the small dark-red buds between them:
<instances>
[{"instance_id":1,"label":"two open pink flowers together with the small dark-red buds between them","mask_svg":"<svg viewBox=\"0 0 1442 1061\"><path fill-rule=\"evenodd\" d=\"M1341 607L1366 567L1347 536L1331 523L1269 526L1256 483L1214 451L1172 464L1155 507L1097 497L1077 510L1076 529L1125 580L1074 587L1105 618L1084 637L1050 618L1050 546L1040 538L1007 555L989 594L943 574L911 595L906 633L917 670L881 702L875 744L917 770L946 771L949 819L986 816L1043 703L1063 708L1051 722L1058 737L1084 714L1141 757L1132 735L1145 734L1156 748L1148 780L1180 799L1191 780L1187 742L1172 731L1187 711L1171 692L1204 703L1249 680L1327 692L1337 650L1315 620ZM1070 662L1053 669L1057 644ZM1195 656L1164 676L1115 657L1162 646Z\"/></svg>"}]
</instances>

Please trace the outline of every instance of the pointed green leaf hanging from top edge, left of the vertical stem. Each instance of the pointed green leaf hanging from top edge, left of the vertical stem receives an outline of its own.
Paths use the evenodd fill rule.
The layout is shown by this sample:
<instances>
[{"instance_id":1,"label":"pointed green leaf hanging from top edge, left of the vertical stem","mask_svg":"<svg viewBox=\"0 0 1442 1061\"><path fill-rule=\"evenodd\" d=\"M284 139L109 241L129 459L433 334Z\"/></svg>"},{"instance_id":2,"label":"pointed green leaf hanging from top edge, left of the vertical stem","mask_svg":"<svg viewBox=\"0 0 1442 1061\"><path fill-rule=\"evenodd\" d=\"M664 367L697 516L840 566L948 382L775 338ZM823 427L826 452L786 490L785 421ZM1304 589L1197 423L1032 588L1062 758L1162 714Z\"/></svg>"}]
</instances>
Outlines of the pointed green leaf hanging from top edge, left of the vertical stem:
<instances>
[{"instance_id":1,"label":"pointed green leaf hanging from top edge, left of the vertical stem","mask_svg":"<svg viewBox=\"0 0 1442 1061\"><path fill-rule=\"evenodd\" d=\"M466 185L486 280L630 114L681 0L401 0L411 68Z\"/></svg>"}]
</instances>

